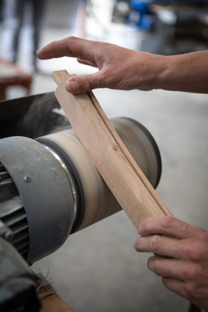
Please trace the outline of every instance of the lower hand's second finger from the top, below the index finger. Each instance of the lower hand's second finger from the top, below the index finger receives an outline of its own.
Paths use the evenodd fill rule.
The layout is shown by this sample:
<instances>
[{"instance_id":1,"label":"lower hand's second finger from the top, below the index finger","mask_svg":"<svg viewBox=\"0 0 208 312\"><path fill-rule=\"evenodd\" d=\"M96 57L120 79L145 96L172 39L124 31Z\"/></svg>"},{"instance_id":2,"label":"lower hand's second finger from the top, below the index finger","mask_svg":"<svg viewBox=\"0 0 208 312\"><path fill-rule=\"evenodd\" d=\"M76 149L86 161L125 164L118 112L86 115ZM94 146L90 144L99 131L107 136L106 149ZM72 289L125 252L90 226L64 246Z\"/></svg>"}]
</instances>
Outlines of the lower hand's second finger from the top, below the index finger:
<instances>
[{"instance_id":1,"label":"lower hand's second finger from the top, below the index finger","mask_svg":"<svg viewBox=\"0 0 208 312\"><path fill-rule=\"evenodd\" d=\"M166 257L181 258L181 241L162 235L138 237L134 248L140 252L153 252Z\"/></svg>"}]
</instances>

